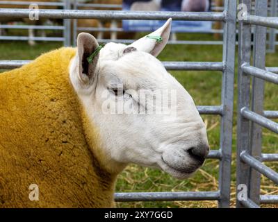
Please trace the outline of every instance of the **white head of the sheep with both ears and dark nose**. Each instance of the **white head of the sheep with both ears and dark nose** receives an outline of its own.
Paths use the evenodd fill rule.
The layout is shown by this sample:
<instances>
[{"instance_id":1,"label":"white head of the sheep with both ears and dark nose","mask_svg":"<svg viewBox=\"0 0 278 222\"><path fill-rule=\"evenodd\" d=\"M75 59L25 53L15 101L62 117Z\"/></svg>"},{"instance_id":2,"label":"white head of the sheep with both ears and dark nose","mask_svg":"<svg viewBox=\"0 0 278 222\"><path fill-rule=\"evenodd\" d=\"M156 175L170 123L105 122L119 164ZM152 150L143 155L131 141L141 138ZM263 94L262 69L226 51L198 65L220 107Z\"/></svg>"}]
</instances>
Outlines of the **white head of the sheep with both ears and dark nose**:
<instances>
[{"instance_id":1,"label":"white head of the sheep with both ears and dark nose","mask_svg":"<svg viewBox=\"0 0 278 222\"><path fill-rule=\"evenodd\" d=\"M187 178L202 166L208 140L193 99L155 58L167 43L170 22L151 34L163 37L163 42L143 37L130 46L109 43L89 65L84 58L97 42L81 33L70 78L92 126L99 130L106 164L136 163ZM166 112L146 106L146 98L158 104L159 92L170 101L158 105ZM167 109L170 105L172 110Z\"/></svg>"}]
</instances>

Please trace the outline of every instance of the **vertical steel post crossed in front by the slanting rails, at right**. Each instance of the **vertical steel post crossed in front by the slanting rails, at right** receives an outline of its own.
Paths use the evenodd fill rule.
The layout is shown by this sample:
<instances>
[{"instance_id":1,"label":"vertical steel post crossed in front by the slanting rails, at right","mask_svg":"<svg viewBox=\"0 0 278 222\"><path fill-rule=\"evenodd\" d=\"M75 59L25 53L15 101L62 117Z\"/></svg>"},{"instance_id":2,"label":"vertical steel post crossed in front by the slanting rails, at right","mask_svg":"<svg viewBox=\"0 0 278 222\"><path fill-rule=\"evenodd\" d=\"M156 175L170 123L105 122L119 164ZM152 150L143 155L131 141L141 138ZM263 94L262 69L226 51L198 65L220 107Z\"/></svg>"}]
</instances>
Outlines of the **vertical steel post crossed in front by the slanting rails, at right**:
<instances>
[{"instance_id":1,"label":"vertical steel post crossed in front by the slanting rails, at right","mask_svg":"<svg viewBox=\"0 0 278 222\"><path fill-rule=\"evenodd\" d=\"M258 16L268 16L268 0L256 0L255 14ZM265 69L265 44L267 28L255 26L254 30L254 49L253 61L254 67ZM264 80L252 78L252 111L263 115L263 96ZM262 128L258 124L251 123L251 155L257 160L261 159L262 146ZM260 204L260 185L261 173L251 170L250 173L250 199Z\"/></svg>"}]
</instances>

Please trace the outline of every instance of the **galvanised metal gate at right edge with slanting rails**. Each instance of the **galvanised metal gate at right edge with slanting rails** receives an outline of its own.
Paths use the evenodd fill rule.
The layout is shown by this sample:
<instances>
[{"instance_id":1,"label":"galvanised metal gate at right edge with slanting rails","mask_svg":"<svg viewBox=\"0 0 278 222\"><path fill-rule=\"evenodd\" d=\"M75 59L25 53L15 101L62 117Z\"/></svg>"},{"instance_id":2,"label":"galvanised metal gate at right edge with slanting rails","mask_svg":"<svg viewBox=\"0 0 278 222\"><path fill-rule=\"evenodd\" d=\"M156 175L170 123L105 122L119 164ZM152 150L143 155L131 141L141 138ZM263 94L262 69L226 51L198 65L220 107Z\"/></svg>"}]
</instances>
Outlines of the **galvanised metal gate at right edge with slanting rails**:
<instances>
[{"instance_id":1,"label":"galvanised metal gate at right edge with slanting rails","mask_svg":"<svg viewBox=\"0 0 278 222\"><path fill-rule=\"evenodd\" d=\"M278 84L278 69L265 70L266 27L278 28L278 18L267 17L268 0L256 0L255 15L250 13L252 0L240 3L247 6L247 14L239 22L236 173L237 187L245 186L247 195L241 196L243 192L238 190L237 207L259 207L260 203L278 203L278 195L260 196L261 174L278 184L278 173L262 163L278 161L278 154L262 153L262 127L278 133L278 123L270 120L277 118L278 112L263 110L265 81ZM251 63L252 25L256 27Z\"/></svg>"}]
</instances>

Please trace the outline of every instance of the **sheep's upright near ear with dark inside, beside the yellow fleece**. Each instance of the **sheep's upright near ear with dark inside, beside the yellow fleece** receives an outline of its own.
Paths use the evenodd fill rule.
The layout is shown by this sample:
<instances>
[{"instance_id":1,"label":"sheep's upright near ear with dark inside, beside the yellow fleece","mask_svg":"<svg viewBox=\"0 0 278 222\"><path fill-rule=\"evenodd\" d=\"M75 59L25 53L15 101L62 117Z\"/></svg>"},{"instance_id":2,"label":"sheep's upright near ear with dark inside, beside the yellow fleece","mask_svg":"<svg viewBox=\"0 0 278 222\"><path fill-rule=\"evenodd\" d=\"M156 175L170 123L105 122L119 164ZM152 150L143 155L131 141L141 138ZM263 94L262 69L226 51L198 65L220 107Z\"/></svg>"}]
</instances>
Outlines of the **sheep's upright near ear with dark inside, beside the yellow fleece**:
<instances>
[{"instance_id":1,"label":"sheep's upright near ear with dark inside, beside the yellow fleece","mask_svg":"<svg viewBox=\"0 0 278 222\"><path fill-rule=\"evenodd\" d=\"M92 61L88 61L88 57L94 53L99 44L95 37L89 33L80 33L77 37L77 52L78 52L78 69L79 77L84 83L92 83L95 76L99 53L97 53Z\"/></svg>"}]
</instances>

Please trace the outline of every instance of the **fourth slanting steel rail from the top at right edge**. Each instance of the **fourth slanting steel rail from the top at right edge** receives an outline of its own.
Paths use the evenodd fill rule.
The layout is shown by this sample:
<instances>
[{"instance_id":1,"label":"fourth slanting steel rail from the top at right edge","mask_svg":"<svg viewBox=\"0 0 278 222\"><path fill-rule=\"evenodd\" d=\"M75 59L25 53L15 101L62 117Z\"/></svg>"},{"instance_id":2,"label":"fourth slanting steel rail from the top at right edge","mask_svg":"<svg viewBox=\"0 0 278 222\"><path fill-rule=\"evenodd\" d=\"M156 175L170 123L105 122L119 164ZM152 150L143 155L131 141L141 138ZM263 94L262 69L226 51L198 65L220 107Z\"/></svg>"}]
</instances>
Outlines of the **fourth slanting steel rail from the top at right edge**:
<instances>
[{"instance_id":1,"label":"fourth slanting steel rail from the top at right edge","mask_svg":"<svg viewBox=\"0 0 278 222\"><path fill-rule=\"evenodd\" d=\"M256 160L254 157L252 157L252 155L246 153L246 151L240 153L240 160L249 164L250 167L256 171L259 171L261 174L263 174L263 176L267 177L278 185L278 173L269 167L266 167L265 164L262 164L259 160Z\"/></svg>"}]
</instances>

